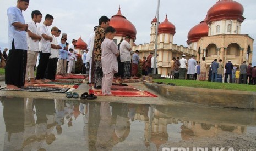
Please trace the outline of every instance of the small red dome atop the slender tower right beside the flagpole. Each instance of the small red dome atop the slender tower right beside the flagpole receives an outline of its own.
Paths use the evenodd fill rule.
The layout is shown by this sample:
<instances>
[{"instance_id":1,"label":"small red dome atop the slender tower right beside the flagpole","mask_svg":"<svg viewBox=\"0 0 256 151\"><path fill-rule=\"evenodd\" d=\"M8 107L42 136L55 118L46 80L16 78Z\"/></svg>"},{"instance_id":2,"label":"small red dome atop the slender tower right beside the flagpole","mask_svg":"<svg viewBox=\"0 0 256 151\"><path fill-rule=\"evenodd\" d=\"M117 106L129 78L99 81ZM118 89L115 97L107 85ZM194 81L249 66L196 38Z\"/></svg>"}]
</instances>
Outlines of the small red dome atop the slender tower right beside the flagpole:
<instances>
[{"instance_id":1,"label":"small red dome atop the slender tower right beside the flagpole","mask_svg":"<svg viewBox=\"0 0 256 151\"><path fill-rule=\"evenodd\" d=\"M170 21L168 21L167 15L166 15L165 21L159 24L158 33L159 34L160 33L171 33L171 34L176 33L175 26Z\"/></svg>"}]
</instances>

